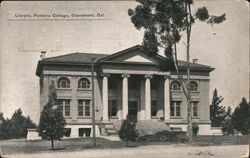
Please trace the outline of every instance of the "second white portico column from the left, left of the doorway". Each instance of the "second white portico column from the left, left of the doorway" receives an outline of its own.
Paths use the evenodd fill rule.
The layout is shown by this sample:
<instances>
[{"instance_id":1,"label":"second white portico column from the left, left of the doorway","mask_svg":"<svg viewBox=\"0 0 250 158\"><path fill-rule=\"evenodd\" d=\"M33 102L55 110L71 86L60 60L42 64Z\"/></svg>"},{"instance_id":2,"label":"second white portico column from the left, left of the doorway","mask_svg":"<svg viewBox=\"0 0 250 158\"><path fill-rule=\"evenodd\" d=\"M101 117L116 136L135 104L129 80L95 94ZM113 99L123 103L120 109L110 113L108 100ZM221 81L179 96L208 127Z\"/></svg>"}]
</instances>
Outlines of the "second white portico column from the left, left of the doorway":
<instances>
[{"instance_id":1,"label":"second white portico column from the left, left of the doorway","mask_svg":"<svg viewBox=\"0 0 250 158\"><path fill-rule=\"evenodd\" d=\"M126 119L128 115L128 77L129 75L122 75L122 118Z\"/></svg>"}]
</instances>

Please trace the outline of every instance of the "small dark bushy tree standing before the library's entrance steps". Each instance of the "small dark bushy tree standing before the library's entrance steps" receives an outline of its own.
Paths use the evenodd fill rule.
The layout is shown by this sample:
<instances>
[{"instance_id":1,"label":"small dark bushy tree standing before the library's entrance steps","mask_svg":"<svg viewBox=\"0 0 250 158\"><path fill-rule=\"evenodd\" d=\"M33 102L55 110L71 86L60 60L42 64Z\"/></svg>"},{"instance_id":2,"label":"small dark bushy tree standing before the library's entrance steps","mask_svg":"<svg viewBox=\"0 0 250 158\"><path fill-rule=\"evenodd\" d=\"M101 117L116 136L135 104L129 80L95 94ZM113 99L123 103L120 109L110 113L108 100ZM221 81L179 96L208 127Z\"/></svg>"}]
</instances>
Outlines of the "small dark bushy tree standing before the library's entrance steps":
<instances>
[{"instance_id":1,"label":"small dark bushy tree standing before the library's entrance steps","mask_svg":"<svg viewBox=\"0 0 250 158\"><path fill-rule=\"evenodd\" d=\"M126 145L128 146L128 142L135 141L137 136L136 123L135 121L131 121L127 116L127 119L122 122L119 137L121 140L126 141Z\"/></svg>"}]
</instances>

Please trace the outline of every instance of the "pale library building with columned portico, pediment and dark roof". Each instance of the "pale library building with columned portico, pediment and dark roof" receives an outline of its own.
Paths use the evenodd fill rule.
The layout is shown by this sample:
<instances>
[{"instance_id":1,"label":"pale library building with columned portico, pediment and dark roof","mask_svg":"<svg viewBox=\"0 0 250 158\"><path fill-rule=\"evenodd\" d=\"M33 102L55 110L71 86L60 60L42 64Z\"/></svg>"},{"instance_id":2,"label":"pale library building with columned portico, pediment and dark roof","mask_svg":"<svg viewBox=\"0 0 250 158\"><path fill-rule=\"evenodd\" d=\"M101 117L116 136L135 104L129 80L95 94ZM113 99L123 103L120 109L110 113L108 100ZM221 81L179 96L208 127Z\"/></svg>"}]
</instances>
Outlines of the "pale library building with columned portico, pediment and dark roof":
<instances>
[{"instance_id":1,"label":"pale library building with columned portico, pediment and dark roof","mask_svg":"<svg viewBox=\"0 0 250 158\"><path fill-rule=\"evenodd\" d=\"M94 87L91 84L91 61ZM179 61L186 78L186 62ZM199 134L210 133L210 66L191 63L192 119ZM73 53L38 62L40 107L48 101L49 86L57 88L57 99L70 137L92 133L92 101L96 106L97 134L107 134L113 124L130 117L136 121L163 121L172 128L187 130L187 101L171 61L152 56L137 45L118 53ZM94 100L92 100L92 89Z\"/></svg>"}]
</instances>

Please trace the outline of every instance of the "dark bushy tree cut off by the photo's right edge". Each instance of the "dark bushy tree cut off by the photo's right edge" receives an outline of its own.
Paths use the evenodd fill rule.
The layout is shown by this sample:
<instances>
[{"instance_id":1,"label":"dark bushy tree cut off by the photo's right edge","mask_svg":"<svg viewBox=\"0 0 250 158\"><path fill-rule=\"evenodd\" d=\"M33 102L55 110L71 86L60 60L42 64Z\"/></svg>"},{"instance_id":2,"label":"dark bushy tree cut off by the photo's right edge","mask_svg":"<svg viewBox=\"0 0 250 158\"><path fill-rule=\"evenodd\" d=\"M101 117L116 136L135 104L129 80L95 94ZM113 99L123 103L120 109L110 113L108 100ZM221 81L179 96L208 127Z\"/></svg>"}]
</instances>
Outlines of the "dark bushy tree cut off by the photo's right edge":
<instances>
[{"instance_id":1,"label":"dark bushy tree cut off by the photo's right edge","mask_svg":"<svg viewBox=\"0 0 250 158\"><path fill-rule=\"evenodd\" d=\"M241 103L235 108L232 115L233 127L247 134L250 129L250 104L247 103L246 98L242 98Z\"/></svg>"}]
</instances>

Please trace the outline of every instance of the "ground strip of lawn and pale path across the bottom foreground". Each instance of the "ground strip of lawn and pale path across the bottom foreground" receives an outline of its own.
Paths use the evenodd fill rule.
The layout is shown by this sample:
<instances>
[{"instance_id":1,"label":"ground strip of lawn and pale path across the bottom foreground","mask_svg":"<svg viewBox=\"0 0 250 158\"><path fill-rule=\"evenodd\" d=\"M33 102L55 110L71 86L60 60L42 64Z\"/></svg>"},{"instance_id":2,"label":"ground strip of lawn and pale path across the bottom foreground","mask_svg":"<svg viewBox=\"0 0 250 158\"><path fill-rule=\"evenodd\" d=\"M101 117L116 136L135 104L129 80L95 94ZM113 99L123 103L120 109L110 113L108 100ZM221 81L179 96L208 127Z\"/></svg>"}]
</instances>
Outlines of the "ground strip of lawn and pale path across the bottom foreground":
<instances>
[{"instance_id":1,"label":"ground strip of lawn and pale path across the bottom foreground","mask_svg":"<svg viewBox=\"0 0 250 158\"><path fill-rule=\"evenodd\" d=\"M91 138L64 139L55 142L57 150L50 150L50 141L25 139L1 141L1 155L7 158L239 158L247 151L247 145L206 145L170 142L124 142L97 139L92 147Z\"/></svg>"}]
</instances>

